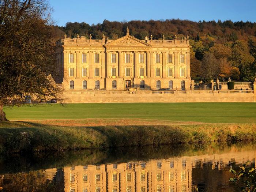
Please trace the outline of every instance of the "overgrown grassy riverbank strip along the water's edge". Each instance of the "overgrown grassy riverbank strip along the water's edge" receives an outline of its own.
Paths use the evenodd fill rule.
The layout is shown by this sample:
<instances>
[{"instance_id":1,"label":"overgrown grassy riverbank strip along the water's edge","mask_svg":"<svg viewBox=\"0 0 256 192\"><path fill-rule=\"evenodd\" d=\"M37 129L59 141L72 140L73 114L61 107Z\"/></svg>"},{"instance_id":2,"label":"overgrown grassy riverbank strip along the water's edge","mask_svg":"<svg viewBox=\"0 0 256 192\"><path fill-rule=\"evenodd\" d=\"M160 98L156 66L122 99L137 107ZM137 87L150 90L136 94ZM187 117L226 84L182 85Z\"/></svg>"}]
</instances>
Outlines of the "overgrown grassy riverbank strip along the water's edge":
<instances>
[{"instance_id":1,"label":"overgrown grassy riverbank strip along the water's edge","mask_svg":"<svg viewBox=\"0 0 256 192\"><path fill-rule=\"evenodd\" d=\"M0 124L0 151L50 151L211 141L255 140L255 124L70 127L10 121Z\"/></svg>"}]
</instances>

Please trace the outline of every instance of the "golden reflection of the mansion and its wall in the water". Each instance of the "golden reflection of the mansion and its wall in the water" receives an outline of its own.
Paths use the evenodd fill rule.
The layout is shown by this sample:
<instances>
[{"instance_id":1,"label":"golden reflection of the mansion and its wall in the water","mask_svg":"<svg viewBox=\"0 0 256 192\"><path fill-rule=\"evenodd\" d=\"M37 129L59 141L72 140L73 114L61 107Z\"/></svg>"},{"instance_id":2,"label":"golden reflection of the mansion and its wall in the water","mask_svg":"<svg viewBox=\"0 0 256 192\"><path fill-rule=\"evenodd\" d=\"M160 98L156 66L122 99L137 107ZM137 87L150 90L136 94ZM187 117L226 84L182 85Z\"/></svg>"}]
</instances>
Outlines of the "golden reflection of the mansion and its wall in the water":
<instances>
[{"instance_id":1,"label":"golden reflection of the mansion and its wall in the water","mask_svg":"<svg viewBox=\"0 0 256 192\"><path fill-rule=\"evenodd\" d=\"M255 161L254 151L64 167L65 192L191 192L192 167Z\"/></svg>"}]
</instances>

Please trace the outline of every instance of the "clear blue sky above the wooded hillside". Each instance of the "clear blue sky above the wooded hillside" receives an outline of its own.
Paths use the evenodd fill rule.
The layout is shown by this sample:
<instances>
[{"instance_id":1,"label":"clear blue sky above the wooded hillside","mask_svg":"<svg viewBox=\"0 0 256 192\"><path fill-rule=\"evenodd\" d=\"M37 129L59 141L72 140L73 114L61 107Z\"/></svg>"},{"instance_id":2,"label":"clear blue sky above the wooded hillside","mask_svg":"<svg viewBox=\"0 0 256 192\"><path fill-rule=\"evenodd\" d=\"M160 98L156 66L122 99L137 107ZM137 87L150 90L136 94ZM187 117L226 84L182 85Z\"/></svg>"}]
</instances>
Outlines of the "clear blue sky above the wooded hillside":
<instances>
[{"instance_id":1,"label":"clear blue sky above the wooded hillside","mask_svg":"<svg viewBox=\"0 0 256 192\"><path fill-rule=\"evenodd\" d=\"M188 19L256 22L256 0L48 0L56 25L123 20Z\"/></svg>"}]
</instances>

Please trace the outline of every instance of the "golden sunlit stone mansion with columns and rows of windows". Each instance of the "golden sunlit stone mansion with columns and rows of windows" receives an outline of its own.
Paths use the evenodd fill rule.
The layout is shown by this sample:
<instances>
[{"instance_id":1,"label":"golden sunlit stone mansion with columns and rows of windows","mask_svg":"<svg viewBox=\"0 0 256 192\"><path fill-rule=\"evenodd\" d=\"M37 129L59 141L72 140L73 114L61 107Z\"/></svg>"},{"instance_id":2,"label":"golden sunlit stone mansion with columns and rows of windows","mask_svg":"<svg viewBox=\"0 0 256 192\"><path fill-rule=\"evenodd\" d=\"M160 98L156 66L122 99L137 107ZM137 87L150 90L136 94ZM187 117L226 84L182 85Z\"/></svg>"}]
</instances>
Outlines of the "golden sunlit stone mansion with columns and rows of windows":
<instances>
[{"instance_id":1,"label":"golden sunlit stone mansion with columns and rows of windows","mask_svg":"<svg viewBox=\"0 0 256 192\"><path fill-rule=\"evenodd\" d=\"M190 90L188 37L144 40L68 38L56 42L59 82L65 90Z\"/></svg>"}]
</instances>

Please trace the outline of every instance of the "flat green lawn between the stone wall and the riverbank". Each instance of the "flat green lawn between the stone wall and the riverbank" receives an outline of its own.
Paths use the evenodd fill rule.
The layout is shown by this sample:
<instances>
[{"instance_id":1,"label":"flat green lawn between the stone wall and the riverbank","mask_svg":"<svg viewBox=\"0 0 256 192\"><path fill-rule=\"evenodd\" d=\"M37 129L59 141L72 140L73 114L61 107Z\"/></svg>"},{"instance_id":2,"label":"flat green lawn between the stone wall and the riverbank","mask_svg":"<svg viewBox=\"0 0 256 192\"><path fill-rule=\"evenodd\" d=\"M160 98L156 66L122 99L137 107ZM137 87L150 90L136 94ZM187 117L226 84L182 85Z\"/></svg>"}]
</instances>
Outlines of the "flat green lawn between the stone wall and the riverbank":
<instances>
[{"instance_id":1,"label":"flat green lawn between the stone wall and the riverbank","mask_svg":"<svg viewBox=\"0 0 256 192\"><path fill-rule=\"evenodd\" d=\"M256 123L256 103L77 103L4 109L9 120L120 118L202 123Z\"/></svg>"}]
</instances>

